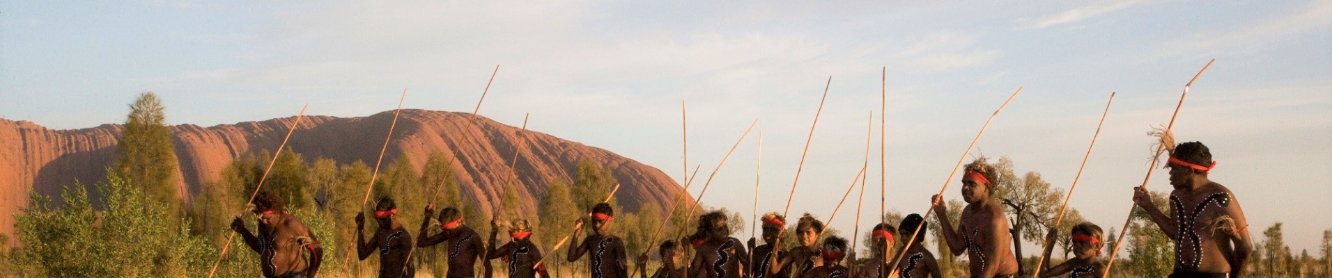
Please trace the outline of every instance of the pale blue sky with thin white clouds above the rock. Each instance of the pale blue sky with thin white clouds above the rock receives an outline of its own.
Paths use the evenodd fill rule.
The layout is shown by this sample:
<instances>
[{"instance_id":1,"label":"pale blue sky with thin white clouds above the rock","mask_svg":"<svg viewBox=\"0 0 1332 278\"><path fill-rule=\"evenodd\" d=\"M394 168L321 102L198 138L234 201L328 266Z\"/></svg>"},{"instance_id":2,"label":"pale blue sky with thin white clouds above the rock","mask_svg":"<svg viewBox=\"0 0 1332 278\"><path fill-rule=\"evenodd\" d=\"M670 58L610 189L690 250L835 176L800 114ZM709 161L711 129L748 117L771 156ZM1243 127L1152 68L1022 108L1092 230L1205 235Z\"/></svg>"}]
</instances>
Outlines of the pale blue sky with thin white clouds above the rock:
<instances>
[{"instance_id":1,"label":"pale blue sky with thin white clouds above the rock","mask_svg":"<svg viewBox=\"0 0 1332 278\"><path fill-rule=\"evenodd\" d=\"M1115 92L1071 206L1120 230L1147 132L1211 59L1176 138L1211 148L1209 177L1235 192L1256 238L1283 222L1296 254L1319 255L1332 229L1329 1L3 1L0 118L123 122L143 92L170 124L202 126L302 104L368 116L402 89L404 108L470 112L500 65L481 116L517 126L530 113L531 130L677 181L686 165L707 177L758 120L703 204L749 217L755 184L759 213L782 210L797 185L791 213L826 219L864 164L871 113L864 211L883 176L887 206L920 213L1018 88L967 160L1008 156L1067 189ZM946 198L960 200L956 180ZM1148 188L1169 189L1166 173ZM852 229L848 208L832 227Z\"/></svg>"}]
</instances>

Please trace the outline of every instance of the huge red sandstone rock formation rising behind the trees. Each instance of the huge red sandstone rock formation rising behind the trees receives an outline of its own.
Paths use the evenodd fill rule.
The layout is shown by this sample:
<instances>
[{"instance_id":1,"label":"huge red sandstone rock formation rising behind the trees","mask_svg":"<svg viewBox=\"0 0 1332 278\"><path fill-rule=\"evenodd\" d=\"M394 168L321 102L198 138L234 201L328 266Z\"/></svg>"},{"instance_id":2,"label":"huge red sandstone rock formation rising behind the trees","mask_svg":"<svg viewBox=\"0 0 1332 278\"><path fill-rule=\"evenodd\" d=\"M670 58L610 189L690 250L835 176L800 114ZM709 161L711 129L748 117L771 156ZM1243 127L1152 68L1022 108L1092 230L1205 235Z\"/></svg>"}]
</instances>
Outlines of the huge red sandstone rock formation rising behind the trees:
<instances>
[{"instance_id":1,"label":"huge red sandstone rock formation rising behind the trees","mask_svg":"<svg viewBox=\"0 0 1332 278\"><path fill-rule=\"evenodd\" d=\"M214 182L222 168L248 153L273 150L281 144L296 117L234 125L170 126L180 161L180 189L192 200L202 182ZM328 157L338 164L374 164L388 133L393 112L368 117L309 116L301 120L288 148L305 160ZM473 121L474 124L468 124ZM92 185L105 180L105 168L115 161L124 132L121 125L53 130L29 121L0 118L0 233L13 237L13 214L28 205L29 190L59 198L60 192L81 181ZM420 172L432 152L457 157L461 192L473 196L489 214L502 194L501 184L518 152L518 194L521 214L537 211L546 182L573 181L579 160L591 160L609 169L621 189L621 206L637 210L643 204L670 208L682 188L661 170L605 149L557 138L539 132L521 132L509 125L468 113L404 109L388 146L385 165L408 153ZM312 162L312 161L306 161ZM461 169L461 170L458 170ZM505 206L509 206L507 204ZM12 246L12 245L11 245Z\"/></svg>"}]
</instances>

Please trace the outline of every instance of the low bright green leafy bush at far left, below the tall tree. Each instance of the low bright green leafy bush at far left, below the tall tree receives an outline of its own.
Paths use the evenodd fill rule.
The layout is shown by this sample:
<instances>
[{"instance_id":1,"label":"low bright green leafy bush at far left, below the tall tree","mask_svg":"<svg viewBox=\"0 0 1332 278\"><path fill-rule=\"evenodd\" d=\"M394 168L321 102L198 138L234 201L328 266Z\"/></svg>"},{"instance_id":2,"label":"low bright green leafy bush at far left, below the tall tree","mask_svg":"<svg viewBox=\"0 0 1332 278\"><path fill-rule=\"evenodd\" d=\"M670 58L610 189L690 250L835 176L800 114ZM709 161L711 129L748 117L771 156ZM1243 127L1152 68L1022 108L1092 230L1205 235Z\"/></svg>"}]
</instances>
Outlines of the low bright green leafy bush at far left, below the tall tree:
<instances>
[{"instance_id":1,"label":"low bright green leafy bush at far left, below the tall tree","mask_svg":"<svg viewBox=\"0 0 1332 278\"><path fill-rule=\"evenodd\" d=\"M83 185L61 193L64 208L32 193L31 206L15 217L24 247L19 271L35 277L198 277L216 251L189 225L174 225L169 206L108 170L95 208Z\"/></svg>"}]
</instances>

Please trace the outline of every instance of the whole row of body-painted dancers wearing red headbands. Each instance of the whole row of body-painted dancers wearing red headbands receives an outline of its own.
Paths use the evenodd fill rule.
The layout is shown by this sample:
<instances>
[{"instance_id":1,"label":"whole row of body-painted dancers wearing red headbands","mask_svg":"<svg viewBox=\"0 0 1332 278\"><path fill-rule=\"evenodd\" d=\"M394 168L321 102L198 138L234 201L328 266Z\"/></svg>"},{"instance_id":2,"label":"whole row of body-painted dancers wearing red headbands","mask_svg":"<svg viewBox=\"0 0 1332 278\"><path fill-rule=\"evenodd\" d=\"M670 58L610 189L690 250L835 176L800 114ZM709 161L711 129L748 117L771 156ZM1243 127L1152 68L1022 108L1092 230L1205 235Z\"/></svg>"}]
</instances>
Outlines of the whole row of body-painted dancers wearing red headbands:
<instances>
[{"instance_id":1,"label":"whole row of body-painted dancers wearing red headbands","mask_svg":"<svg viewBox=\"0 0 1332 278\"><path fill-rule=\"evenodd\" d=\"M1152 204L1151 196L1142 186L1134 189L1134 202L1175 242L1175 271L1171 278L1191 277L1240 277L1244 262L1252 250L1244 213L1239 201L1225 186L1207 178L1216 165L1211 153L1200 142L1180 144L1171 152L1169 215ZM992 198L999 176L994 166L979 158L966 166L962 178L962 197L967 202L958 225L950 221L936 221L952 254L967 254L970 277L1015 277L1018 258L1011 251L1012 238L1004 210ZM948 219L948 208L942 196L931 198L932 211L939 219ZM264 277L314 277L322 258L322 249L314 234L282 209L282 198L261 192L250 210L258 218L258 234L250 233L240 218L232 222L250 250L260 254ZM477 259L503 258L510 278L549 278L541 265L541 250L531 242L531 226L525 219L513 219L507 225L509 238L496 246L496 235L502 222L490 222L490 235L482 242L481 235L464 225L462 214L454 208L440 211L441 233L430 235L430 219L436 219L433 206L425 208L425 218L417 238L397 219L397 206L392 198L382 197L374 209L378 229L365 239L364 213L356 215L357 246L360 259L366 259L376 249L380 251L381 278L414 277L410 263L413 247L426 247L446 243L449 278L477 277ZM593 231L579 243L567 249L566 259L577 262L585 254L589 257L590 278L649 278L647 253L637 255L635 271L630 273L625 241L611 233L614 211L602 202L591 208L585 217L575 221L574 234L581 234L585 223ZM787 229L786 215L766 213L762 217L763 245L757 239L747 243L731 237L727 217L711 211L698 218L697 230L681 239L666 239L657 247L661 267L650 278L942 278L942 270L935 254L923 246L927 222L920 214L908 214L894 227L892 223L876 223L871 230L868 259L856 259L847 247L844 238L831 235L823 238L825 223L810 214L802 215L794 226L798 245L783 247L779 241ZM900 229L899 229L900 227ZM1104 233L1100 226L1083 222L1070 230L1074 258L1060 265L1050 265L1050 253L1059 231L1051 229L1044 246L1044 261L1040 262L1040 277L1088 278L1102 277L1106 263L1102 262ZM896 238L903 238L898 247ZM686 246L687 245L687 246ZM686 259L689 249L694 255ZM900 259L899 259L900 258ZM687 263L686 263L687 262ZM482 274L492 275L490 263L481 263Z\"/></svg>"}]
</instances>

